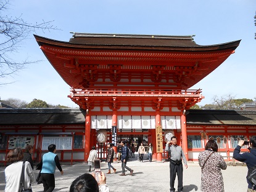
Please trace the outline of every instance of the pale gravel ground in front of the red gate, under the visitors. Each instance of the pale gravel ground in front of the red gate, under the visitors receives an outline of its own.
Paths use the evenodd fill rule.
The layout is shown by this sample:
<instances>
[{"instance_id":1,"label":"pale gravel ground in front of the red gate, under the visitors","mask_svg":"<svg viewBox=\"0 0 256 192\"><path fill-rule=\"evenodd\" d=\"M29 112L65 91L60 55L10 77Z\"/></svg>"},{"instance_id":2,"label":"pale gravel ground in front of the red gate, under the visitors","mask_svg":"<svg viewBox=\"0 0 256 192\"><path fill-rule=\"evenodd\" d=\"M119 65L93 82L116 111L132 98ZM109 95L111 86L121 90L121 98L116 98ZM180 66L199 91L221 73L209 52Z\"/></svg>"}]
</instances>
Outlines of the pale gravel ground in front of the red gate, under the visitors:
<instances>
[{"instance_id":1,"label":"pale gravel ground in front of the red gate, under the visitors","mask_svg":"<svg viewBox=\"0 0 256 192\"><path fill-rule=\"evenodd\" d=\"M114 162L112 165L117 169L116 174L106 175L107 185L110 191L170 191L170 162L139 162L135 159L127 162L127 166L134 170L133 176L119 176L122 173L121 163ZM5 178L4 168L0 167L0 191L4 191ZM108 171L107 163L101 162L101 168L104 173ZM60 175L56 168L56 188L54 191L69 191L69 186L73 180L79 175L88 173L88 164L75 162L73 166L70 164L62 165L64 175ZM111 170L112 171L112 170ZM113 172L113 171L112 171ZM126 172L130 174L130 172ZM246 183L246 166L228 166L226 170L222 170L225 191L247 191ZM35 170L38 175L38 170ZM177 178L176 178L177 180ZM175 180L175 182L176 182ZM189 162L188 169L183 172L184 191L200 191L200 167L197 162ZM175 188L177 183L175 183ZM43 184L32 184L33 192L43 191Z\"/></svg>"}]
</instances>

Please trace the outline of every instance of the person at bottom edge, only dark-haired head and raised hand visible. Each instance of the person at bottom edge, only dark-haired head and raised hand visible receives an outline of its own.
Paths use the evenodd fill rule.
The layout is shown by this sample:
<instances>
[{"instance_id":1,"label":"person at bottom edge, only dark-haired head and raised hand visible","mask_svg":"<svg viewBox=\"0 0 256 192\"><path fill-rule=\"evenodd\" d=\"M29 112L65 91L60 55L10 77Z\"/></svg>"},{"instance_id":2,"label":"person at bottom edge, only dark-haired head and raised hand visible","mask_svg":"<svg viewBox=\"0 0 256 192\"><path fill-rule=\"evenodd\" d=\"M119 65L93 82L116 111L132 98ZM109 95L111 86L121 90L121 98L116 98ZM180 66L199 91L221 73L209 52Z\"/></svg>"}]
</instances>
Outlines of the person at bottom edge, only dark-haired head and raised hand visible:
<instances>
[{"instance_id":1,"label":"person at bottom edge, only dark-haired head and raised hand visible","mask_svg":"<svg viewBox=\"0 0 256 192\"><path fill-rule=\"evenodd\" d=\"M109 187L106 185L106 177L101 172L99 183L95 179L95 175L83 174L77 177L70 186L70 192L109 192Z\"/></svg>"}]
</instances>

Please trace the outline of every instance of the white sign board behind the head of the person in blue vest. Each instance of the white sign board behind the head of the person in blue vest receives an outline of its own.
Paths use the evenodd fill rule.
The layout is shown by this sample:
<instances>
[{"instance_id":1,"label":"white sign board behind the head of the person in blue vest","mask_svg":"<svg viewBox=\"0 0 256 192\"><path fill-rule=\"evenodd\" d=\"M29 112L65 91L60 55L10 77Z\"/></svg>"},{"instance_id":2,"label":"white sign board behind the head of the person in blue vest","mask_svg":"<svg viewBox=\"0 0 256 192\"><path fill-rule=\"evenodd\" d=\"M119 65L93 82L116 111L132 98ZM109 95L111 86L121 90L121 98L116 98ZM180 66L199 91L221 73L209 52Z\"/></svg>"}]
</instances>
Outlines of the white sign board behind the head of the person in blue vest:
<instances>
[{"instance_id":1,"label":"white sign board behind the head of the person in blue vest","mask_svg":"<svg viewBox=\"0 0 256 192\"><path fill-rule=\"evenodd\" d=\"M43 137L42 150L48 150L51 144L56 145L56 150L72 150L73 137Z\"/></svg>"}]
</instances>

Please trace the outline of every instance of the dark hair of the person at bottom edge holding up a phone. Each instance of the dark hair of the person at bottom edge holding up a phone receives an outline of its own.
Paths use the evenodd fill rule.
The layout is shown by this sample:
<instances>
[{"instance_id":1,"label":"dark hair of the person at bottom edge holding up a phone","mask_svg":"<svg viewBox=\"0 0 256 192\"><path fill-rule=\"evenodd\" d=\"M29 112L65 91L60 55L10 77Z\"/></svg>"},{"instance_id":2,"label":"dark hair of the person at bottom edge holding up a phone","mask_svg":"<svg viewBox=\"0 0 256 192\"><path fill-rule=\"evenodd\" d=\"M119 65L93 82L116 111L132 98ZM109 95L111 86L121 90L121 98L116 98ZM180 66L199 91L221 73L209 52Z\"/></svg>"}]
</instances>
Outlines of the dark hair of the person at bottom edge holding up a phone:
<instances>
[{"instance_id":1,"label":"dark hair of the person at bottom edge holding up a phone","mask_svg":"<svg viewBox=\"0 0 256 192\"><path fill-rule=\"evenodd\" d=\"M70 185L70 192L99 192L99 186L93 175L83 174Z\"/></svg>"}]
</instances>

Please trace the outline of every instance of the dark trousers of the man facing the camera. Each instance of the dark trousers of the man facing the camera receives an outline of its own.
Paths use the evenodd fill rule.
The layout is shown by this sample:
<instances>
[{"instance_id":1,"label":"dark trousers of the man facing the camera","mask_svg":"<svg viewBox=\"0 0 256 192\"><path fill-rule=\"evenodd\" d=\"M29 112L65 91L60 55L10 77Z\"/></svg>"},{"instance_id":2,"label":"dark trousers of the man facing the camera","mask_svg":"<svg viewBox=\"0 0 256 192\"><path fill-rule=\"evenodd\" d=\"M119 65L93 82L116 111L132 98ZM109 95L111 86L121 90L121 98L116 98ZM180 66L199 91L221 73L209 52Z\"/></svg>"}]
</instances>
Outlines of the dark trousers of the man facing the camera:
<instances>
[{"instance_id":1,"label":"dark trousers of the man facing the camera","mask_svg":"<svg viewBox=\"0 0 256 192\"><path fill-rule=\"evenodd\" d=\"M178 175L178 191L183 191L183 164L173 164L170 162L170 191L174 192L174 182Z\"/></svg>"}]
</instances>

